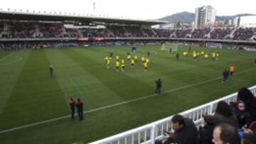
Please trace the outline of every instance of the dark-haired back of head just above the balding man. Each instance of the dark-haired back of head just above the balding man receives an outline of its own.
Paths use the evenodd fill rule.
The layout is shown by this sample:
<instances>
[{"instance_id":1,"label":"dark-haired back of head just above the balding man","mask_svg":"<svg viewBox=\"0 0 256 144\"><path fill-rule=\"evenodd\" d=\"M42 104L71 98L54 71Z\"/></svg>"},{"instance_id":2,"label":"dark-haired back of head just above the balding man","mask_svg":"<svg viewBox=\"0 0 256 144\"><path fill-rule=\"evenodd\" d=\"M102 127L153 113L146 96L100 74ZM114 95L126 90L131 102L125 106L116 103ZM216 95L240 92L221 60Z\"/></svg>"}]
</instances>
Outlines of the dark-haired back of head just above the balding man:
<instances>
[{"instance_id":1,"label":"dark-haired back of head just above the balding man","mask_svg":"<svg viewBox=\"0 0 256 144\"><path fill-rule=\"evenodd\" d=\"M222 116L225 116L225 117L233 116L233 113L230 109L230 106L228 106L228 103L226 103L225 101L218 102L215 113L218 113L218 114L220 114Z\"/></svg>"}]
</instances>

